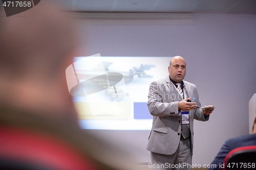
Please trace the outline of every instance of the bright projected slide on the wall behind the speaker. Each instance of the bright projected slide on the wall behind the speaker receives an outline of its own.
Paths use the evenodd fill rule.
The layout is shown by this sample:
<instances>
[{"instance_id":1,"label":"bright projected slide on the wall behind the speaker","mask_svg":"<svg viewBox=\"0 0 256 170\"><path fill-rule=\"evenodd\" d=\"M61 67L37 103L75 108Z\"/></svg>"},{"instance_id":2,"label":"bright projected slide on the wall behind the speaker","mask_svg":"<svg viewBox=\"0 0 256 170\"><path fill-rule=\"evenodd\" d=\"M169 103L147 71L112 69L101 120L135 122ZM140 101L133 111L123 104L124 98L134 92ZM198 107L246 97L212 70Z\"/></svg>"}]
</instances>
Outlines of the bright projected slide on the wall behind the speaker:
<instances>
[{"instance_id":1,"label":"bright projected slide on the wall behind the speaker","mask_svg":"<svg viewBox=\"0 0 256 170\"><path fill-rule=\"evenodd\" d=\"M74 58L70 86L83 129L151 130L150 83L165 78L171 57ZM68 69L67 69L68 70ZM75 81L75 80L74 80Z\"/></svg>"}]
</instances>

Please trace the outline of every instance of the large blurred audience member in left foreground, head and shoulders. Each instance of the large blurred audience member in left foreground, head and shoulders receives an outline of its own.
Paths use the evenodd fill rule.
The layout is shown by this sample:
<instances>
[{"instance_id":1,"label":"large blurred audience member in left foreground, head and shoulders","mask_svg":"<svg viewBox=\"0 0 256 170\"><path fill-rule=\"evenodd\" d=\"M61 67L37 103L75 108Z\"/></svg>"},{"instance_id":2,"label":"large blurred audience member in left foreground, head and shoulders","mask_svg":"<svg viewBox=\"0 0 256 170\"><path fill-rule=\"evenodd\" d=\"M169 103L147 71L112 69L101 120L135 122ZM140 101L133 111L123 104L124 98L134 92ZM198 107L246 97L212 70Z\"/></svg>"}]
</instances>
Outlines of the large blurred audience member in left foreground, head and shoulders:
<instances>
[{"instance_id":1,"label":"large blurred audience member in left foreground, head and shoulders","mask_svg":"<svg viewBox=\"0 0 256 170\"><path fill-rule=\"evenodd\" d=\"M0 26L0 129L54 136L75 148L94 169L133 169L130 157L78 125L65 75L78 40L66 14L40 3L0 17ZM0 146L0 156L4 148Z\"/></svg>"}]
</instances>

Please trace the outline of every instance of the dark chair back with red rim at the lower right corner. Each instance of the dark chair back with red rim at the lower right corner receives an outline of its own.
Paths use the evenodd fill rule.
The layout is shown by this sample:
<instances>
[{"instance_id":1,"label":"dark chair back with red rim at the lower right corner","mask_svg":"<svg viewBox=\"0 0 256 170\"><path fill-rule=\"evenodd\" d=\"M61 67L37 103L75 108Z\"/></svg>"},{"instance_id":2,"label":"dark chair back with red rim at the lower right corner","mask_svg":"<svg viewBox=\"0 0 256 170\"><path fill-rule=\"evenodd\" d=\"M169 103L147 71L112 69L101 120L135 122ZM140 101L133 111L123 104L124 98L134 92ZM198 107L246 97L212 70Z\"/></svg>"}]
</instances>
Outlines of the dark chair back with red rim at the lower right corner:
<instances>
[{"instance_id":1,"label":"dark chair back with red rim at the lower right corner","mask_svg":"<svg viewBox=\"0 0 256 170\"><path fill-rule=\"evenodd\" d=\"M225 169L256 169L256 145L230 151L224 160Z\"/></svg>"}]
</instances>

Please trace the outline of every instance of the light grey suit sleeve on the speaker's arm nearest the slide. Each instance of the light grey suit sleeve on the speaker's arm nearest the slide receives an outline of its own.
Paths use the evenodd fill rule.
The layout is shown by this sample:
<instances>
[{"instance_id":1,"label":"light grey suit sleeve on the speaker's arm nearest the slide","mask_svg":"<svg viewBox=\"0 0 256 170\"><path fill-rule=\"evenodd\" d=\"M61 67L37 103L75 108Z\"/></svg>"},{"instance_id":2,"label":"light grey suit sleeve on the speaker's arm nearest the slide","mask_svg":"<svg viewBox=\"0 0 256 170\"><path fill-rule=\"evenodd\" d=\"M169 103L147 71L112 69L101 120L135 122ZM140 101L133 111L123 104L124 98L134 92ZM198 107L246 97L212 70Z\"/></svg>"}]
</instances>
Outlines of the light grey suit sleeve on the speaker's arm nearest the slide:
<instances>
[{"instance_id":1,"label":"light grey suit sleeve on the speaker's arm nearest the slide","mask_svg":"<svg viewBox=\"0 0 256 170\"><path fill-rule=\"evenodd\" d=\"M152 82L148 93L148 110L153 116L178 116L178 103L163 103L163 98L168 98L164 92L164 87L157 82Z\"/></svg>"}]
</instances>

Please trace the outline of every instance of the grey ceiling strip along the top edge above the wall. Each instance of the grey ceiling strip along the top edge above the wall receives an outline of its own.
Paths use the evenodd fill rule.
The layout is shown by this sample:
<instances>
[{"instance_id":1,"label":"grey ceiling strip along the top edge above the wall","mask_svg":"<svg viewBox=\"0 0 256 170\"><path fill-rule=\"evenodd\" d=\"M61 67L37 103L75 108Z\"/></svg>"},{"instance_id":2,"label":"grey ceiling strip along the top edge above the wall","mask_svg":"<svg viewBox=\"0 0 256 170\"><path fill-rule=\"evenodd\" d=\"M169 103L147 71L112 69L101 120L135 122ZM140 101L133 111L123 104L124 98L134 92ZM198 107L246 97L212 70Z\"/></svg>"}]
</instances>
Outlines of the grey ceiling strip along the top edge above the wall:
<instances>
[{"instance_id":1,"label":"grey ceiling strip along the top edge above the wall","mask_svg":"<svg viewBox=\"0 0 256 170\"><path fill-rule=\"evenodd\" d=\"M256 0L45 0L80 12L256 14Z\"/></svg>"}]
</instances>

